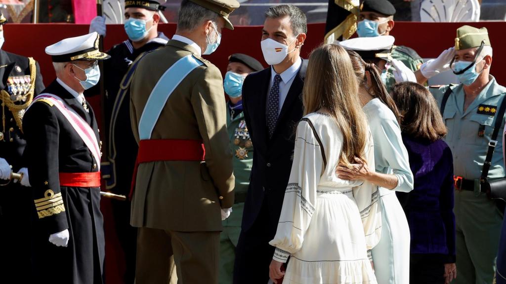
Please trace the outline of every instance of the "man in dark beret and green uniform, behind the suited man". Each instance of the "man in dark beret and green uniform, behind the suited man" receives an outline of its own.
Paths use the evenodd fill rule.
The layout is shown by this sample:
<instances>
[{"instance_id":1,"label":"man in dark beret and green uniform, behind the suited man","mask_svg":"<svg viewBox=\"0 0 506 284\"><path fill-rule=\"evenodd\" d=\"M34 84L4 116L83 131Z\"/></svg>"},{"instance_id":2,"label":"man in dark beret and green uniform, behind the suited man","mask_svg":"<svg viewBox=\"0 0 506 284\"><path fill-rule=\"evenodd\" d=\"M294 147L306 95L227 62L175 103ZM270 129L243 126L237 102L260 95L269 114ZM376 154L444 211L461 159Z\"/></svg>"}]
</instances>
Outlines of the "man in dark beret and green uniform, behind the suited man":
<instances>
[{"instance_id":1,"label":"man in dark beret and green uniform, behind the suited man","mask_svg":"<svg viewBox=\"0 0 506 284\"><path fill-rule=\"evenodd\" d=\"M227 129L230 146L234 155L235 201L230 217L222 221L220 234L220 272L219 283L232 283L235 247L241 232L242 210L249 185L249 174L253 164L253 145L242 113L242 82L251 72L264 69L262 64L245 54L236 53L229 57L227 74L223 81L227 103Z\"/></svg>"}]
</instances>

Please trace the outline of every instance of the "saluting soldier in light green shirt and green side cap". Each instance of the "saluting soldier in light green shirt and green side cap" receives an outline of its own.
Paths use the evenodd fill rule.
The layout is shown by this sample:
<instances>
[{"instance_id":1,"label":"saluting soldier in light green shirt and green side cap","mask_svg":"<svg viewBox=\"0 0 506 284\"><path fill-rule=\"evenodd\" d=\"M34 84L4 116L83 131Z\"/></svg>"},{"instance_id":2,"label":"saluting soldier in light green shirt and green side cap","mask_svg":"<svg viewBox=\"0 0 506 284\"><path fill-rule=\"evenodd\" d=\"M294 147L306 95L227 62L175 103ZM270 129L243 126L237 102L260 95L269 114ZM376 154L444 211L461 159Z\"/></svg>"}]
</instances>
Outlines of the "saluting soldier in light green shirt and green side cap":
<instances>
[{"instance_id":1,"label":"saluting soldier in light green shirt and green side cap","mask_svg":"<svg viewBox=\"0 0 506 284\"><path fill-rule=\"evenodd\" d=\"M487 29L462 26L457 29L454 49L424 63L419 72L428 78L451 68L461 82L430 87L440 104L448 128L445 141L453 153L457 246L457 278L453 283L457 284L492 283L499 245L502 213L480 188L495 120L502 120L499 133L504 128L504 117L495 114L506 88L489 74L491 63ZM502 143L499 134L489 180L504 177Z\"/></svg>"}]
</instances>

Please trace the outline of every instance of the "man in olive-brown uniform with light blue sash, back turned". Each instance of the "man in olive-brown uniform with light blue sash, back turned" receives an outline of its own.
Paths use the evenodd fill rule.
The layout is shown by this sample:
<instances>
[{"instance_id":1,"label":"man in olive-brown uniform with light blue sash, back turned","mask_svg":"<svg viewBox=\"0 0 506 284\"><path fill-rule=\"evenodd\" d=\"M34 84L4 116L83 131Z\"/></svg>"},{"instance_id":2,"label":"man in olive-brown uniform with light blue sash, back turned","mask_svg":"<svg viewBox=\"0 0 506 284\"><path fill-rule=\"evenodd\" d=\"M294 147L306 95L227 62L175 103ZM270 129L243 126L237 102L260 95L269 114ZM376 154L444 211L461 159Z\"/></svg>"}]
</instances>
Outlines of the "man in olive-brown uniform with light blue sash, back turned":
<instances>
[{"instance_id":1,"label":"man in olive-brown uniform with light blue sash, back turned","mask_svg":"<svg viewBox=\"0 0 506 284\"><path fill-rule=\"evenodd\" d=\"M218 283L220 231L234 205L233 156L218 49L236 0L183 0L176 33L147 54L131 84L139 144L131 224L136 283ZM233 214L233 213L232 213Z\"/></svg>"}]
</instances>

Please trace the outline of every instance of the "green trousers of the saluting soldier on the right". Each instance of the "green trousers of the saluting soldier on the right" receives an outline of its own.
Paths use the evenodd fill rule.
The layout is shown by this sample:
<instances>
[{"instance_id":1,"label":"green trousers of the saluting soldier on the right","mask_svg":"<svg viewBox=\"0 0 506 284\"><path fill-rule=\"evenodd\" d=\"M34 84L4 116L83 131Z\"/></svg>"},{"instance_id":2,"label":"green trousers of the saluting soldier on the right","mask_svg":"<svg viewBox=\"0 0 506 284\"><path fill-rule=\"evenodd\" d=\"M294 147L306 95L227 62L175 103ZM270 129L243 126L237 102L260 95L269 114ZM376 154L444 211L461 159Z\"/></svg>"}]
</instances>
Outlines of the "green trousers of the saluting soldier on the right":
<instances>
[{"instance_id":1,"label":"green trousers of the saluting soldier on the right","mask_svg":"<svg viewBox=\"0 0 506 284\"><path fill-rule=\"evenodd\" d=\"M502 214L485 194L455 191L457 278L453 284L490 284L495 274Z\"/></svg>"}]
</instances>

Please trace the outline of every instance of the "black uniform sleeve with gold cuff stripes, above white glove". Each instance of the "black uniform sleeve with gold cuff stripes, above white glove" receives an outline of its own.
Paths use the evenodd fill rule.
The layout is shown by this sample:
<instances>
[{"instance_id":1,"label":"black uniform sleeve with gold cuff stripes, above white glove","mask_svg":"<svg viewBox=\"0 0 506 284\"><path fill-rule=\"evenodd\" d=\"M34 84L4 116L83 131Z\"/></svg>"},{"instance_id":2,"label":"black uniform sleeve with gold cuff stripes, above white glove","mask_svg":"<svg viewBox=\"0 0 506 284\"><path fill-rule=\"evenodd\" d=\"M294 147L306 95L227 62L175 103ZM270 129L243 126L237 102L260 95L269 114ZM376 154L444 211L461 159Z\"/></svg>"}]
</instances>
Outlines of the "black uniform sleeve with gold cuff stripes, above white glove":
<instances>
[{"instance_id":1,"label":"black uniform sleeve with gold cuff stripes, above white glove","mask_svg":"<svg viewBox=\"0 0 506 284\"><path fill-rule=\"evenodd\" d=\"M68 228L58 170L60 126L49 101L34 103L23 118L33 200L39 221L52 234Z\"/></svg>"}]
</instances>

